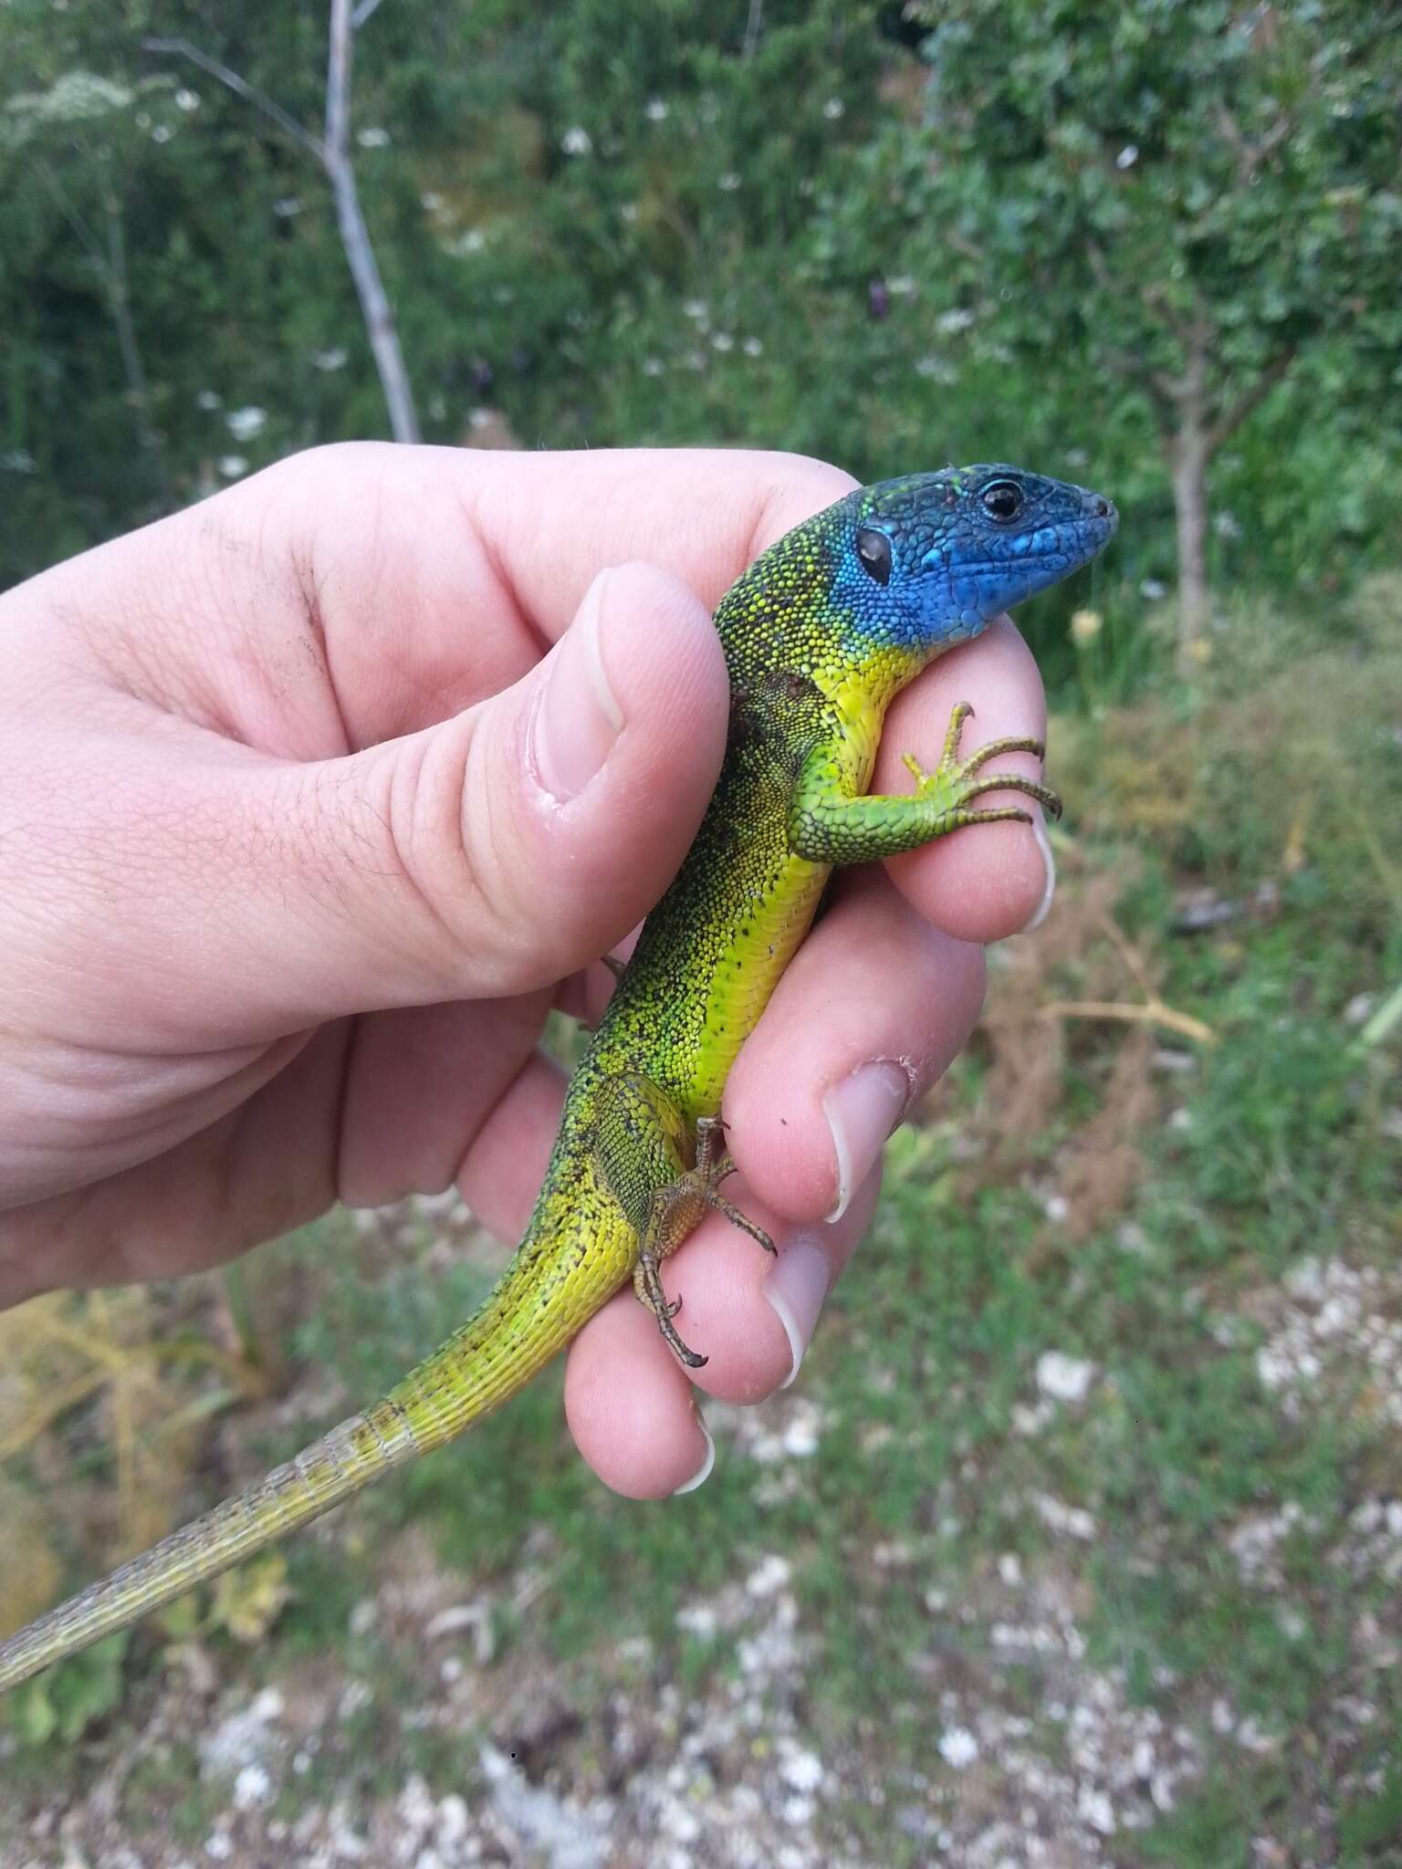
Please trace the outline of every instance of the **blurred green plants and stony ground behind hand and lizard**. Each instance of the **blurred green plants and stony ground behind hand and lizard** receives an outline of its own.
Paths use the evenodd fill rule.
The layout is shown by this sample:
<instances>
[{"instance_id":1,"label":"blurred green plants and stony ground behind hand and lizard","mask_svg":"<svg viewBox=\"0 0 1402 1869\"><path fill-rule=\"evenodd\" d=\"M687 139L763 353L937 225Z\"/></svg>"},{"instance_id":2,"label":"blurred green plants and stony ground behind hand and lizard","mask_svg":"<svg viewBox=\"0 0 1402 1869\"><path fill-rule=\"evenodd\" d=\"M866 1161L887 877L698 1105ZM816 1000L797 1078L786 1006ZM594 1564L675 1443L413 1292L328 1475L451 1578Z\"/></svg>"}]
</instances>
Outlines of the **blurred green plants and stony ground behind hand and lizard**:
<instances>
[{"instance_id":1,"label":"blurred green plants and stony ground behind hand and lizard","mask_svg":"<svg viewBox=\"0 0 1402 1869\"><path fill-rule=\"evenodd\" d=\"M0 581L348 435L1066 473L1062 890L697 1495L538 1387L13 1697L0 1860L1402 1862L1402 9L333 15L342 125L320 4L0 6ZM0 1320L0 1624L495 1263Z\"/></svg>"}]
</instances>

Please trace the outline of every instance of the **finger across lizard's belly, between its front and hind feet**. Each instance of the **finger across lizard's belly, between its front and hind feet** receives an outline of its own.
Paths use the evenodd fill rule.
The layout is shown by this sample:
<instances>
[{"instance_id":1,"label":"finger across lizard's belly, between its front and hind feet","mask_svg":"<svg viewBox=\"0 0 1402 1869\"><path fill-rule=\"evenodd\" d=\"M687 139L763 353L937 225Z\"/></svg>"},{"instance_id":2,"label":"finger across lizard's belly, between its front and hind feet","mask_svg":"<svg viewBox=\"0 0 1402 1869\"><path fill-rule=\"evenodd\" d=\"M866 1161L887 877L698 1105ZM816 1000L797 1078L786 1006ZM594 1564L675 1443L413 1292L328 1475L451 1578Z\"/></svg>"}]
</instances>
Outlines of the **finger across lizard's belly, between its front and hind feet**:
<instances>
[{"instance_id":1,"label":"finger across lizard's belly, between its front and hind feet","mask_svg":"<svg viewBox=\"0 0 1402 1869\"><path fill-rule=\"evenodd\" d=\"M727 1142L765 1202L789 1220L839 1217L981 1004L981 948L922 921L880 871L851 884L725 1084Z\"/></svg>"}]
</instances>

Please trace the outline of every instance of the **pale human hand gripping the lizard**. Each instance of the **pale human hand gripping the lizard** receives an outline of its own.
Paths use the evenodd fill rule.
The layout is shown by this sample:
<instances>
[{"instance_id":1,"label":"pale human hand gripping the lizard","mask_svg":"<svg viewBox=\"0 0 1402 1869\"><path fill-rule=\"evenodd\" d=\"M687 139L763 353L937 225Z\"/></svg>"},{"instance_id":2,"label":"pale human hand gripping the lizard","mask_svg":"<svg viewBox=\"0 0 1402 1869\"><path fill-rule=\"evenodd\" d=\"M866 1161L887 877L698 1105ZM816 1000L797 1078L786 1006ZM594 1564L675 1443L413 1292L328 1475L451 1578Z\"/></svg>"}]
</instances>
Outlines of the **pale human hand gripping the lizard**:
<instances>
[{"instance_id":1,"label":"pale human hand gripping the lizard","mask_svg":"<svg viewBox=\"0 0 1402 1869\"><path fill-rule=\"evenodd\" d=\"M708 611L849 486L731 450L336 447L0 598L0 1305L454 1179L516 1239L563 1097L544 1017L602 1004L720 766ZM1041 731L1006 621L899 697L877 789L959 699L987 738ZM725 1091L780 1262L714 1217L667 1265L707 1392L791 1376L880 1144L972 1028L980 944L1047 890L1019 824L841 878ZM708 1463L630 1291L566 1411L619 1491Z\"/></svg>"}]
</instances>

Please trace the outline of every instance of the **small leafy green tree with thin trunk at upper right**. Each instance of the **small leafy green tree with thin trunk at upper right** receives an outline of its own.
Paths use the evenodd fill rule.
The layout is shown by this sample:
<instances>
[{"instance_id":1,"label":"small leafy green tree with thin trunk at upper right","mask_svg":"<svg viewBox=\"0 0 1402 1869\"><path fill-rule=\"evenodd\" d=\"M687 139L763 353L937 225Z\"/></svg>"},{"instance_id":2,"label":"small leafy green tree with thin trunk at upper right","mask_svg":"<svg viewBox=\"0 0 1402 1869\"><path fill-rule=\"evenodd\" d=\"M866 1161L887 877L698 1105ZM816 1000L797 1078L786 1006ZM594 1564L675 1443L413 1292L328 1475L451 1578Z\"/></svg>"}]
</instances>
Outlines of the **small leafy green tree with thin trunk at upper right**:
<instances>
[{"instance_id":1,"label":"small leafy green tree with thin trunk at upper right","mask_svg":"<svg viewBox=\"0 0 1402 1869\"><path fill-rule=\"evenodd\" d=\"M970 342L1152 411L1180 663L1209 619L1208 467L1318 340L1402 370L1402 9L1357 0L920 0L923 121L847 224ZM875 254L869 262L877 265Z\"/></svg>"}]
</instances>

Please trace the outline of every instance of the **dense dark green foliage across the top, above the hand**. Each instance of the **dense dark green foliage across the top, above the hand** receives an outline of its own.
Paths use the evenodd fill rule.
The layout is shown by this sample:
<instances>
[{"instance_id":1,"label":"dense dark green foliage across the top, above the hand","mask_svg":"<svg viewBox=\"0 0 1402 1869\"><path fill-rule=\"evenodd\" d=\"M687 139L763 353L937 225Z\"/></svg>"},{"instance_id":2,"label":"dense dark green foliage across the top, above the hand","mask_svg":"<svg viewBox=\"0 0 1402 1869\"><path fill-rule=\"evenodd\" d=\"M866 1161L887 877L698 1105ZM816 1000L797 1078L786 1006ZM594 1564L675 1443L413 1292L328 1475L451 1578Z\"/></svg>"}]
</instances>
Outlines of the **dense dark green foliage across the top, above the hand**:
<instances>
[{"instance_id":1,"label":"dense dark green foliage across the top, above the hand","mask_svg":"<svg viewBox=\"0 0 1402 1869\"><path fill-rule=\"evenodd\" d=\"M1224 409L1299 351L1219 454L1219 585L1323 600L1385 563L1398 36L1303 0L950 0L925 24L839 0L379 7L353 148L426 435L492 406L527 447L1105 484L1125 525L1094 602L1138 678L1138 585L1174 578L1153 378L1200 314ZM4 9L0 581L385 432L325 178L153 32L320 133L314 11ZM1245 185L1241 138L1269 144ZM1024 619L1052 677L1079 602Z\"/></svg>"}]
</instances>

